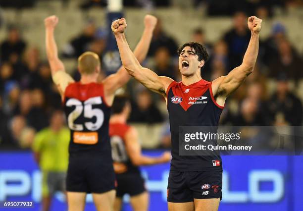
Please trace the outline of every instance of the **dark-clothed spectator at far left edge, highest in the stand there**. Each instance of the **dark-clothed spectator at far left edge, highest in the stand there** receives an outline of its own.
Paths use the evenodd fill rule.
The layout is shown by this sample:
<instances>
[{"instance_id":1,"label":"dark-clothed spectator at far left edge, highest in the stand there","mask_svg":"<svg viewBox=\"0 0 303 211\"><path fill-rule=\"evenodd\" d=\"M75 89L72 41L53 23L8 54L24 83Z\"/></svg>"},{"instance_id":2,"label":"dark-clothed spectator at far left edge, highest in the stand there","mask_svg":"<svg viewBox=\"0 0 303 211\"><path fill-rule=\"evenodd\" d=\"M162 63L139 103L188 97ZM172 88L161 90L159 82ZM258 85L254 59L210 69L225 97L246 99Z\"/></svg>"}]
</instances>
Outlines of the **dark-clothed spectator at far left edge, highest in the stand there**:
<instances>
[{"instance_id":1,"label":"dark-clothed spectator at far left edge, highest in the stand there","mask_svg":"<svg viewBox=\"0 0 303 211\"><path fill-rule=\"evenodd\" d=\"M7 39L0 45L1 61L10 60L11 56L20 58L25 47L26 44L22 40L19 30L16 27L10 27L8 29Z\"/></svg>"}]
</instances>

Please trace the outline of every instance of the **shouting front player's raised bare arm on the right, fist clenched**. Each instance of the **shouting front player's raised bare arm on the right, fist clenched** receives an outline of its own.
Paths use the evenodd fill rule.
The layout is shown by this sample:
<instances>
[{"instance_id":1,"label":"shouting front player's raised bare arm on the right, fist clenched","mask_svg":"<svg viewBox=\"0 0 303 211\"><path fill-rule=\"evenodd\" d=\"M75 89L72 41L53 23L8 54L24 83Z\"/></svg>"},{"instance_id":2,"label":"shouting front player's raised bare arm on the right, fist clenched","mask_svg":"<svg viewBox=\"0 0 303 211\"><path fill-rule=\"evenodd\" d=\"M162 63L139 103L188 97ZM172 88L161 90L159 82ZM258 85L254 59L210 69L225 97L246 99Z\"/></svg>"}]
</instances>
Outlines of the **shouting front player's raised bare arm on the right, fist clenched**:
<instances>
[{"instance_id":1,"label":"shouting front player's raised bare arm on the right, fist clenched","mask_svg":"<svg viewBox=\"0 0 303 211\"><path fill-rule=\"evenodd\" d=\"M249 17L248 25L252 31L252 36L242 64L234 68L228 75L217 78L212 83L213 95L220 106L224 105L225 99L238 89L245 79L253 72L259 51L261 22L262 20L255 16Z\"/></svg>"}]
</instances>

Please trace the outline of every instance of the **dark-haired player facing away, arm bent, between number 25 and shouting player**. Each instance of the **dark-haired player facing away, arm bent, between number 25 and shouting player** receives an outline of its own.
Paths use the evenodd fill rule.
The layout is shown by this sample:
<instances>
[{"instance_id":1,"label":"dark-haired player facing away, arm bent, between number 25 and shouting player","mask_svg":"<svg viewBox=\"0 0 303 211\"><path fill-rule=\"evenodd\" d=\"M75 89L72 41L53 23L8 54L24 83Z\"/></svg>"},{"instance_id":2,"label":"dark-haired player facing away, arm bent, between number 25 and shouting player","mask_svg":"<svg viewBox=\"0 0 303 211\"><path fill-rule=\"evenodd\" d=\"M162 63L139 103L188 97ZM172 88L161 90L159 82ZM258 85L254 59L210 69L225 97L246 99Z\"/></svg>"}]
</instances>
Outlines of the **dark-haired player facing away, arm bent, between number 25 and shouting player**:
<instances>
[{"instance_id":1,"label":"dark-haired player facing away, arm bent, between number 25 and shouting player","mask_svg":"<svg viewBox=\"0 0 303 211\"><path fill-rule=\"evenodd\" d=\"M126 96L116 96L109 120L111 152L117 179L114 211L121 210L125 194L130 195L134 211L148 211L149 194L138 166L168 162L171 155L165 152L160 157L152 158L141 154L138 132L126 123L130 112L129 99Z\"/></svg>"}]
</instances>

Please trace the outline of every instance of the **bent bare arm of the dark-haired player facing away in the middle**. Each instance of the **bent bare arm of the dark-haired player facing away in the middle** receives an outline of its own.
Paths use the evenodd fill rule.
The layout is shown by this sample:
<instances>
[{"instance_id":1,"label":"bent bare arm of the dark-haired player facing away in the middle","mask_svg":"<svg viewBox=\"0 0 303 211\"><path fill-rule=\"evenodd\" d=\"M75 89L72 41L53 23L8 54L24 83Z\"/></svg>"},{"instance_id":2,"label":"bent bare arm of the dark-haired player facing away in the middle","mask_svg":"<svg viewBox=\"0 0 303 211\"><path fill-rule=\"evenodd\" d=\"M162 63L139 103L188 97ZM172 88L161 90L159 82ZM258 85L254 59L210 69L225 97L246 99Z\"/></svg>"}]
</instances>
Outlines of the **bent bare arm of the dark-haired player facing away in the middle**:
<instances>
[{"instance_id":1,"label":"bent bare arm of the dark-haired player facing away in the middle","mask_svg":"<svg viewBox=\"0 0 303 211\"><path fill-rule=\"evenodd\" d=\"M125 135L126 151L134 165L152 165L168 162L170 153L164 153L160 157L148 157L141 154L141 146L138 140L138 133L131 127Z\"/></svg>"}]
</instances>

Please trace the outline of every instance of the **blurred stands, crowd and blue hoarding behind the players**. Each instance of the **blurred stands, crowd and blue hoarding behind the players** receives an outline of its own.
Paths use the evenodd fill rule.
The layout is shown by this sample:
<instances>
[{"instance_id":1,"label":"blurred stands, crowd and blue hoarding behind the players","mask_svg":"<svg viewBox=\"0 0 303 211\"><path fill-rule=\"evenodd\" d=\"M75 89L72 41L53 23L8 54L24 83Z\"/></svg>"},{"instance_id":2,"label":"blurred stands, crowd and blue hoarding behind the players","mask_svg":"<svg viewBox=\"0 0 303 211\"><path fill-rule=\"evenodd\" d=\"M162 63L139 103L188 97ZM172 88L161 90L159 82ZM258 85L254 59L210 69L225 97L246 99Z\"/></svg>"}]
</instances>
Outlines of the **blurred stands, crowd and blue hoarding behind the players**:
<instances>
[{"instance_id":1,"label":"blurred stands, crowd and blue hoarding behind the players","mask_svg":"<svg viewBox=\"0 0 303 211\"><path fill-rule=\"evenodd\" d=\"M46 60L43 20L55 14L59 57L75 80L77 57L98 53L102 77L121 65L110 30L124 16L126 36L136 46L145 14L158 17L144 66L180 80L178 46L194 41L210 54L202 70L211 81L242 62L251 34L247 17L263 19L257 64L245 83L226 101L222 125L302 125L302 0L124 0L110 12L106 0L0 0L0 201L33 201L39 210L41 173L31 151L36 135L49 126L50 113L61 107ZM144 153L170 148L165 101L131 80L129 123L140 134ZM302 127L300 127L302 131ZM302 142L297 143L303 146ZM225 156L220 211L300 211L303 158L300 156ZM150 210L164 211L169 164L142 167L151 193ZM124 211L130 207L125 198ZM52 211L64 210L57 193ZM9 210L9 209L7 209ZM88 197L86 210L94 210Z\"/></svg>"}]
</instances>

